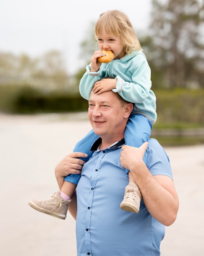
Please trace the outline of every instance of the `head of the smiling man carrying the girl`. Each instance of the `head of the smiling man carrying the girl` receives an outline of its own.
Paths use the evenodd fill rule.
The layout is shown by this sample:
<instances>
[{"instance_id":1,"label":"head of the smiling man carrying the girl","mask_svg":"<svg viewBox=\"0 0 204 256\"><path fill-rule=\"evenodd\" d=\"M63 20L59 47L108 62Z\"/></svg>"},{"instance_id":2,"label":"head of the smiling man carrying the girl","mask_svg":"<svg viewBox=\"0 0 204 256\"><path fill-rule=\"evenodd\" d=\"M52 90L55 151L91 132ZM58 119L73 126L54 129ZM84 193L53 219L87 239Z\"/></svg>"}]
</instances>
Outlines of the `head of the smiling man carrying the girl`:
<instances>
[{"instance_id":1,"label":"head of the smiling man carrying the girl","mask_svg":"<svg viewBox=\"0 0 204 256\"><path fill-rule=\"evenodd\" d=\"M107 91L97 95L91 92L89 121L94 132L105 141L106 145L111 145L124 137L132 108L133 104L122 99L118 93Z\"/></svg>"}]
</instances>

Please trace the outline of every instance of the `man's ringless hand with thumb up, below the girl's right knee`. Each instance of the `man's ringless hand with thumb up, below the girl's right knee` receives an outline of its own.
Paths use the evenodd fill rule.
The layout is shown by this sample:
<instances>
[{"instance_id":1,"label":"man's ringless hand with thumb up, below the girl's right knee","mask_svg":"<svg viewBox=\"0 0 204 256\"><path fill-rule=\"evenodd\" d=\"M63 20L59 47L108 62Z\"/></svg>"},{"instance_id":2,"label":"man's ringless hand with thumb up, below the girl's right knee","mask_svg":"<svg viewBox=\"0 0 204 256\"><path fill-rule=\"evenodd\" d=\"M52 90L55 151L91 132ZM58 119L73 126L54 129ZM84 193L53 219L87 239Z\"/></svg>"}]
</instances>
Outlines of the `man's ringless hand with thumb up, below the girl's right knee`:
<instances>
[{"instance_id":1,"label":"man's ringless hand with thumb up, below the girl's right knee","mask_svg":"<svg viewBox=\"0 0 204 256\"><path fill-rule=\"evenodd\" d=\"M143 157L147 149L148 142L145 142L139 148L131 146L122 146L121 151L121 165L127 170L136 169L140 163L143 163Z\"/></svg>"}]
</instances>

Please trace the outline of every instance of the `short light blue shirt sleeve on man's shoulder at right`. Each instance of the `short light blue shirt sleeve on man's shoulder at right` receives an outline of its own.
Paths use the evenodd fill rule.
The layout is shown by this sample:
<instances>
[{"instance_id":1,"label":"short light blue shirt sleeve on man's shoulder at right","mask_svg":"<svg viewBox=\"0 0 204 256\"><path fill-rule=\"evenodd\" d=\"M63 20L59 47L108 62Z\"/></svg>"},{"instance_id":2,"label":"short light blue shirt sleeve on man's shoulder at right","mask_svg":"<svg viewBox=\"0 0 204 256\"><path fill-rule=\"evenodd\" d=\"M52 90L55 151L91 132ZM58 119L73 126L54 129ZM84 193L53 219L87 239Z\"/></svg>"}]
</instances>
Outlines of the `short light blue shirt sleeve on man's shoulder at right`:
<instances>
[{"instance_id":1,"label":"short light blue shirt sleeve on man's shoulder at right","mask_svg":"<svg viewBox=\"0 0 204 256\"><path fill-rule=\"evenodd\" d=\"M152 175L167 175L173 179L169 157L156 139L149 139L147 168Z\"/></svg>"}]
</instances>

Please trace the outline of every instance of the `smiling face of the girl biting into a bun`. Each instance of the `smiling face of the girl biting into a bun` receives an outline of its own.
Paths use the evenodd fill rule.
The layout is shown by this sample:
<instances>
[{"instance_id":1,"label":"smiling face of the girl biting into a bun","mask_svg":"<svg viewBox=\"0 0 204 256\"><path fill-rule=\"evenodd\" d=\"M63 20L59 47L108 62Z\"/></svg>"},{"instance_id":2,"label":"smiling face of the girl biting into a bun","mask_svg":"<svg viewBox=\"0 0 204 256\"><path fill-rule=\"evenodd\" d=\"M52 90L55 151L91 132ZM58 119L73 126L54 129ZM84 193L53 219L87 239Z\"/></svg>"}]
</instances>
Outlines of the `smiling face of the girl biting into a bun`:
<instances>
[{"instance_id":1,"label":"smiling face of the girl biting into a bun","mask_svg":"<svg viewBox=\"0 0 204 256\"><path fill-rule=\"evenodd\" d=\"M110 50L114 54L114 58L122 58L125 56L125 52L123 49L123 43L121 36L108 35L104 30L97 37L99 49L102 50Z\"/></svg>"}]
</instances>

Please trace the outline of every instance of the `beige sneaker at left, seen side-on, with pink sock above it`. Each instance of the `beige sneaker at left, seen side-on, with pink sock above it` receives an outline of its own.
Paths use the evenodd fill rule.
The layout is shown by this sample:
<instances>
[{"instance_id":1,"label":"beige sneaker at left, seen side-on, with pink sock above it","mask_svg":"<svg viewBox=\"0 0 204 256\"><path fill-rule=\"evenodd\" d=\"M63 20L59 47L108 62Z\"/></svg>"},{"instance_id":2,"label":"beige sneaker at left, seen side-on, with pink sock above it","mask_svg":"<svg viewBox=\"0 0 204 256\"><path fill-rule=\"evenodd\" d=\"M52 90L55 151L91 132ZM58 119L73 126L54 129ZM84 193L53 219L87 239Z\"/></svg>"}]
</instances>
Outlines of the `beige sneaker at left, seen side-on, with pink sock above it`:
<instances>
[{"instance_id":1,"label":"beige sneaker at left, seen side-on, with pink sock above it","mask_svg":"<svg viewBox=\"0 0 204 256\"><path fill-rule=\"evenodd\" d=\"M29 201L29 205L37 211L65 220L68 210L68 204L70 204L72 200L64 200L59 195L59 192L60 191L57 191L51 198L44 201L37 201L33 199Z\"/></svg>"}]
</instances>

